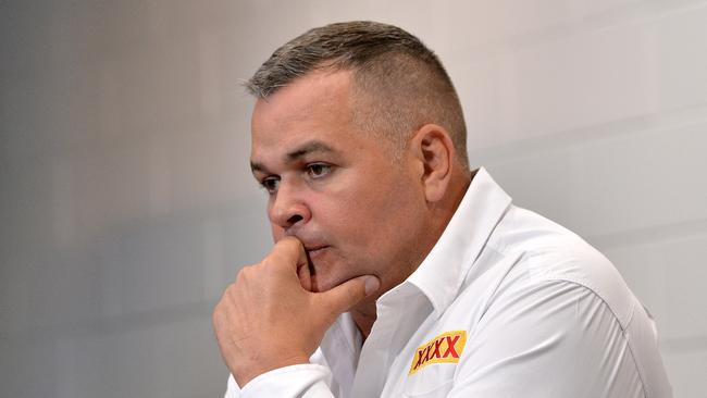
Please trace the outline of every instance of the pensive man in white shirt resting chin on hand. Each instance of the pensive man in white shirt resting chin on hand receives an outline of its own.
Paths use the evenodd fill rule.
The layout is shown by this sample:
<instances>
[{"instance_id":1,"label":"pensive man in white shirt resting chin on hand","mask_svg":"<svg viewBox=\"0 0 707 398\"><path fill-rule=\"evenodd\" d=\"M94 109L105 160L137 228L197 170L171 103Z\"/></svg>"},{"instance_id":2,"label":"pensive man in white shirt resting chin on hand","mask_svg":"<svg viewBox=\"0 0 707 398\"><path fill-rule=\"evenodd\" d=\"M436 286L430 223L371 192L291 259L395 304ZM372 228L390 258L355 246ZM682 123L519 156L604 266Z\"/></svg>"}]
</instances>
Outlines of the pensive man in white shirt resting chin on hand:
<instances>
[{"instance_id":1,"label":"pensive man in white shirt resting chin on hand","mask_svg":"<svg viewBox=\"0 0 707 398\"><path fill-rule=\"evenodd\" d=\"M214 310L227 397L671 396L609 261L469 170L415 37L315 28L248 87L275 245Z\"/></svg>"}]
</instances>

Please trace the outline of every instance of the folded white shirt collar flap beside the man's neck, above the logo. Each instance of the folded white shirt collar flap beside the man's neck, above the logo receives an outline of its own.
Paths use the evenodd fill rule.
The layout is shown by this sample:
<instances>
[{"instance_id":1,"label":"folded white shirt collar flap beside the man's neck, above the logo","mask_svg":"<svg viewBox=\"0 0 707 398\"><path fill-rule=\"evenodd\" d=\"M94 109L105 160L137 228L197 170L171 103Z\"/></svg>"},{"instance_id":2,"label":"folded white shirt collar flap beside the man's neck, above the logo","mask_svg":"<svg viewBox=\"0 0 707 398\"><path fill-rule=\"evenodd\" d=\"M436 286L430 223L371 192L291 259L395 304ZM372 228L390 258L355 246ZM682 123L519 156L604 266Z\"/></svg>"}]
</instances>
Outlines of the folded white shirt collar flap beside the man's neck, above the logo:
<instances>
[{"instance_id":1,"label":"folded white shirt collar flap beside the man's neck, above the logo","mask_svg":"<svg viewBox=\"0 0 707 398\"><path fill-rule=\"evenodd\" d=\"M430 299L435 316L442 315L457 297L510 203L510 196L485 169L479 169L439 240L406 281Z\"/></svg>"}]
</instances>

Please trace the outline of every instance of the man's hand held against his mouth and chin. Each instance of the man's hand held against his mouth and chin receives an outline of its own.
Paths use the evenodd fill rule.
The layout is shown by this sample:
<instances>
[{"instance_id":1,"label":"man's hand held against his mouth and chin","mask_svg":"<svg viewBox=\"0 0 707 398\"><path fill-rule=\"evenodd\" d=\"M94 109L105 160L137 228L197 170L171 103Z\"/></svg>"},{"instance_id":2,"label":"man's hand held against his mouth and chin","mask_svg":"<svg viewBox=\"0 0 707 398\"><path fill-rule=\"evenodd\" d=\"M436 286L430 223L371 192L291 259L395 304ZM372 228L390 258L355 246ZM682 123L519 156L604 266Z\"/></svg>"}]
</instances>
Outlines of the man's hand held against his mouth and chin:
<instances>
[{"instance_id":1,"label":"man's hand held against his mouth and chin","mask_svg":"<svg viewBox=\"0 0 707 398\"><path fill-rule=\"evenodd\" d=\"M243 268L216 304L221 355L241 387L273 369L309 363L336 318L379 288L375 276L363 275L309 291L305 248L285 237L259 264Z\"/></svg>"}]
</instances>

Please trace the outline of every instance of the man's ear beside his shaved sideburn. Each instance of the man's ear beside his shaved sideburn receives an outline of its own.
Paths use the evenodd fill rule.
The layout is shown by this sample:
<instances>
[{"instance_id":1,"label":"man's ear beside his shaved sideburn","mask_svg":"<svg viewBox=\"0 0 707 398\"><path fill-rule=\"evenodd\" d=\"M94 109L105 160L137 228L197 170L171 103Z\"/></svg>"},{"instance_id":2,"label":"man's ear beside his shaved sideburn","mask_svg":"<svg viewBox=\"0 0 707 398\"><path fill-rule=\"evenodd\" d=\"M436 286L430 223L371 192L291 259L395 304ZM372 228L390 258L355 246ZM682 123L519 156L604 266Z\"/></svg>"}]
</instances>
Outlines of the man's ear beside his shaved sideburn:
<instances>
[{"instance_id":1,"label":"man's ear beside his shaved sideburn","mask_svg":"<svg viewBox=\"0 0 707 398\"><path fill-rule=\"evenodd\" d=\"M427 202L437 202L445 197L456 151L449 133L436 124L425 124L410 141L412 154L422 165L420 176Z\"/></svg>"}]
</instances>

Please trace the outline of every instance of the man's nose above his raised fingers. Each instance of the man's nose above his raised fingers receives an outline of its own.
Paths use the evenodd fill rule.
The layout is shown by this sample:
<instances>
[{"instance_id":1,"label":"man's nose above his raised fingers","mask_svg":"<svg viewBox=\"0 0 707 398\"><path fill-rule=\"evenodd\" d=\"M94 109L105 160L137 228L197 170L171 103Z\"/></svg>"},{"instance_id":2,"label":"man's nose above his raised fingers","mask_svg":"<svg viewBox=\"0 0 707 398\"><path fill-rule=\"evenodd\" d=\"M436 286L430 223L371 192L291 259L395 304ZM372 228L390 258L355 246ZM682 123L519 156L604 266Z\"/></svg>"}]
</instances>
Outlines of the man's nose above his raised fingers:
<instances>
[{"instance_id":1,"label":"man's nose above his raised fingers","mask_svg":"<svg viewBox=\"0 0 707 398\"><path fill-rule=\"evenodd\" d=\"M306 224L312 214L297 187L281 181L277 192L270 203L268 216L273 226L278 226L286 233L295 225Z\"/></svg>"}]
</instances>

